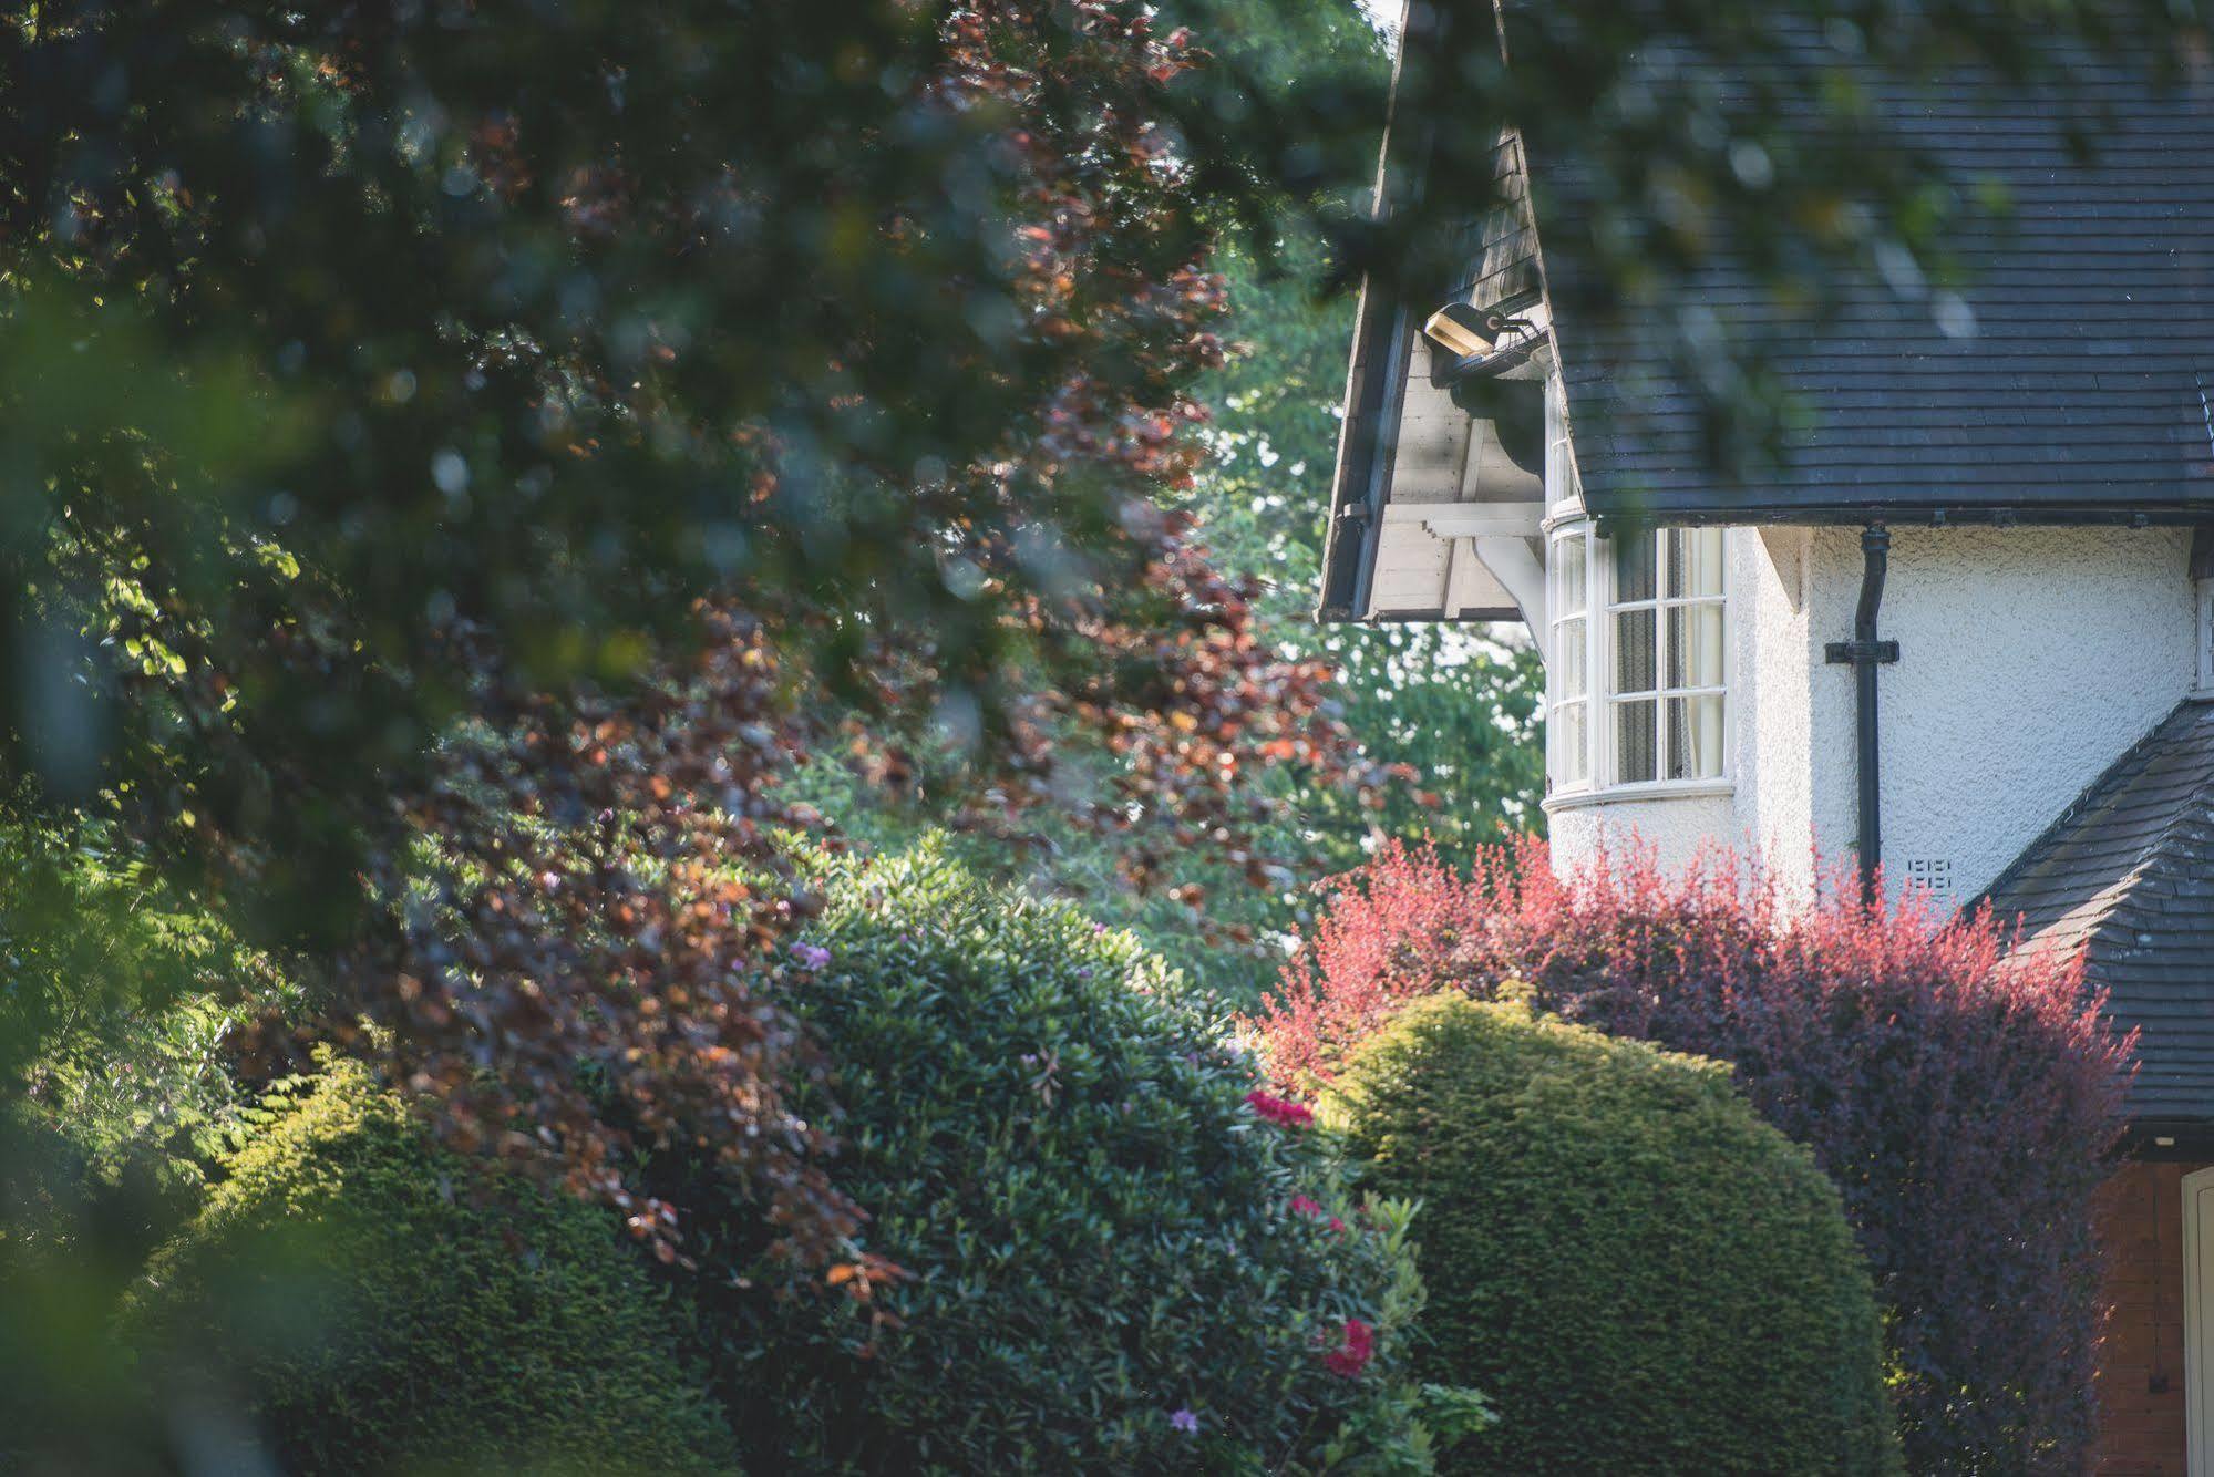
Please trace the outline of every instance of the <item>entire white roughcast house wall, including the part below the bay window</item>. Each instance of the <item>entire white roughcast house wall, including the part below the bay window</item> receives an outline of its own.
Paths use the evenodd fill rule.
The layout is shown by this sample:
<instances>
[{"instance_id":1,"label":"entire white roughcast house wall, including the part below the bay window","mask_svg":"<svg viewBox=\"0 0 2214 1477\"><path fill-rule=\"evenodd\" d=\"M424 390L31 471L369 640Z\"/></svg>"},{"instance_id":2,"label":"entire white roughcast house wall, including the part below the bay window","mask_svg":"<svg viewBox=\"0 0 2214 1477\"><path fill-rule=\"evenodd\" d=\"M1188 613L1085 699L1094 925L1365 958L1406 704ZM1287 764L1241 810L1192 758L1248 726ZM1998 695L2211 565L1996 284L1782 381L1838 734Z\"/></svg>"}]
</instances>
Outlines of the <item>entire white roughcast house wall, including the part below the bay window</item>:
<instances>
[{"instance_id":1,"label":"entire white roughcast house wall, including the part below the bay window","mask_svg":"<svg viewBox=\"0 0 2214 1477\"><path fill-rule=\"evenodd\" d=\"M1955 901L1988 886L2194 678L2183 529L1893 529L1880 675L1884 861ZM1756 848L1791 892L1855 837L1858 529L1731 529L1722 793L1548 806L1554 861L1636 835L1680 866Z\"/></svg>"}]
</instances>

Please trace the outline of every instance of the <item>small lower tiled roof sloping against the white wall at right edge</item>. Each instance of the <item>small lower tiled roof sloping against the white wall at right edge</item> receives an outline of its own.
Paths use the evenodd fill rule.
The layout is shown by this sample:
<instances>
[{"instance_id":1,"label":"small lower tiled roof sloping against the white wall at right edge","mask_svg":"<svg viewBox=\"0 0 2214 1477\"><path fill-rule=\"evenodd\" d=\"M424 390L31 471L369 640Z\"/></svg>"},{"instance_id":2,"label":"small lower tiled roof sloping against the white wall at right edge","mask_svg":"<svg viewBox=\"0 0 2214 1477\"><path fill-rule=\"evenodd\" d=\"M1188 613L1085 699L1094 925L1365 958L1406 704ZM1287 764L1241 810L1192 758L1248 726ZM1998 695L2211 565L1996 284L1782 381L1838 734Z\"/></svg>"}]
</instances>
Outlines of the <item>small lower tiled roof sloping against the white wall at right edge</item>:
<instances>
[{"instance_id":1,"label":"small lower tiled roof sloping against the white wall at right edge","mask_svg":"<svg viewBox=\"0 0 2214 1477\"><path fill-rule=\"evenodd\" d=\"M2086 950L2114 1023L2143 1027L2132 1116L2214 1120L2214 702L2179 706L1986 897L2024 952Z\"/></svg>"}]
</instances>

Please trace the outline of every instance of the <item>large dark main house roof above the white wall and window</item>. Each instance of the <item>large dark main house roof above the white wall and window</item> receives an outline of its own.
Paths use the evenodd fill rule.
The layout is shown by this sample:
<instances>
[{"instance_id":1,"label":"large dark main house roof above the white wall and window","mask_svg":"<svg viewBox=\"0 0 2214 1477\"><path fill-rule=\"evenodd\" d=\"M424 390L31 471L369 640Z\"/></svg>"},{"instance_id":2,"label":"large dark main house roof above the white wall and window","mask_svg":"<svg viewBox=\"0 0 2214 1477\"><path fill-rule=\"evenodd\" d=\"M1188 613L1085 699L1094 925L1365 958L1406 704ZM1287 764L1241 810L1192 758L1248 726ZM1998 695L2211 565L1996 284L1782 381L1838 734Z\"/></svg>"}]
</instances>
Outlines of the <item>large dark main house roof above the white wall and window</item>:
<instances>
[{"instance_id":1,"label":"large dark main house roof above the white wall and window","mask_svg":"<svg viewBox=\"0 0 2214 1477\"><path fill-rule=\"evenodd\" d=\"M1734 487L1716 485L1698 396L1658 345L1579 317L1572 171L1556 162L1548 190L1543 140L1525 140L1585 505L1736 523L2214 516L2214 84L2201 71L2154 91L2148 62L2077 60L2066 102L1977 73L1858 69L1891 140L1962 186L1995 184L2013 213L1946 237L1968 272L1955 332L1873 279L1844 288L1835 319L1789 323L1727 250L1689 283L1776 350L1815 416L1780 472ZM2106 120L2090 162L2061 133L2068 111Z\"/></svg>"}]
</instances>

